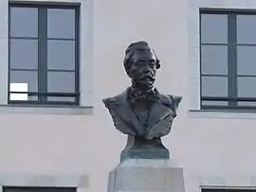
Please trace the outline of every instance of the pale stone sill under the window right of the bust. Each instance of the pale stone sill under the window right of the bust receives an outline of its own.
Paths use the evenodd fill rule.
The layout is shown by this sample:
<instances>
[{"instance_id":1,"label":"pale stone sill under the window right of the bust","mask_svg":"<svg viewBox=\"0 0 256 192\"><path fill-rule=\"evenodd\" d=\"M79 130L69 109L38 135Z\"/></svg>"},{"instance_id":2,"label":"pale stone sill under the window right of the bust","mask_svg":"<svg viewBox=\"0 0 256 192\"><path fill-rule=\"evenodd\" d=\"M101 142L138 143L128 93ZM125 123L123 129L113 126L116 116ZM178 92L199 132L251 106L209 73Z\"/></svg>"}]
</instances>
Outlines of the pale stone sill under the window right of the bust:
<instances>
[{"instance_id":1,"label":"pale stone sill under the window right of the bust","mask_svg":"<svg viewBox=\"0 0 256 192\"><path fill-rule=\"evenodd\" d=\"M191 118L256 119L256 111L239 110L190 110Z\"/></svg>"}]
</instances>

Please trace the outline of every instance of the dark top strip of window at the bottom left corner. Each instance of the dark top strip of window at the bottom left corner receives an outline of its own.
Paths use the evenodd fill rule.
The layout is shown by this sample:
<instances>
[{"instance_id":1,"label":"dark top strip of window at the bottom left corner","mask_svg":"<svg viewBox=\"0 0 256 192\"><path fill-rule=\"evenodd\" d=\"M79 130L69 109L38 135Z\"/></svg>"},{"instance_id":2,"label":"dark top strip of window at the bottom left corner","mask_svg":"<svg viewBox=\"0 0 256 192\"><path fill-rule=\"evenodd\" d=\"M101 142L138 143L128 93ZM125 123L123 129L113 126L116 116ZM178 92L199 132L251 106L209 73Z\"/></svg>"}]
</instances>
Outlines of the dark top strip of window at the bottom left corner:
<instances>
[{"instance_id":1,"label":"dark top strip of window at the bottom left corner","mask_svg":"<svg viewBox=\"0 0 256 192\"><path fill-rule=\"evenodd\" d=\"M3 192L76 192L75 187L16 187L4 186Z\"/></svg>"}]
</instances>

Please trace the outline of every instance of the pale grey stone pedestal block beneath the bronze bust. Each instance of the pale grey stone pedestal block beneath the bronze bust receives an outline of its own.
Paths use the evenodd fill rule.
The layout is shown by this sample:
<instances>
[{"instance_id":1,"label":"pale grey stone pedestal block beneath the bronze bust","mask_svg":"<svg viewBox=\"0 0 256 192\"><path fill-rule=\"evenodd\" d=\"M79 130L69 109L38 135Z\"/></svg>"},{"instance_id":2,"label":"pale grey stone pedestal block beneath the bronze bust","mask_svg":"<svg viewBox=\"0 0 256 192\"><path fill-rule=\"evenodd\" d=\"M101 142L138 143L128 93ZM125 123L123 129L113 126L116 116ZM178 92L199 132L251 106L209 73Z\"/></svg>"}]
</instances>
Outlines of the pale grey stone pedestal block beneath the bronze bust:
<instances>
[{"instance_id":1,"label":"pale grey stone pedestal block beneath the bronze bust","mask_svg":"<svg viewBox=\"0 0 256 192\"><path fill-rule=\"evenodd\" d=\"M185 192L183 168L171 160L127 159L109 173L108 192Z\"/></svg>"}]
</instances>

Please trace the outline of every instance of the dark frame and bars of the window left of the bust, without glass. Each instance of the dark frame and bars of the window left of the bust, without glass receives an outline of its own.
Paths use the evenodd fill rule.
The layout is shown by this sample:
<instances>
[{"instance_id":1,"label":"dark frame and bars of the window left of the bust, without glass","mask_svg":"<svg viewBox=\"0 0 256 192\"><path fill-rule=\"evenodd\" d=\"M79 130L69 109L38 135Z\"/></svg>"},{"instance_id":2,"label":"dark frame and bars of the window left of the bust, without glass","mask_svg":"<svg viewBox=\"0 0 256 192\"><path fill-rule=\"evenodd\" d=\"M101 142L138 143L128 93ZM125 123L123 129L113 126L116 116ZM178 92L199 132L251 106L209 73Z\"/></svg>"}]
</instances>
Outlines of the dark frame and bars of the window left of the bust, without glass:
<instances>
[{"instance_id":1,"label":"dark frame and bars of the window left of the bust, without glass","mask_svg":"<svg viewBox=\"0 0 256 192\"><path fill-rule=\"evenodd\" d=\"M8 78L8 103L9 104L34 104L34 105L80 105L80 3L41 3L41 2L9 2L9 18L11 8L37 8L38 9L38 91L37 92L10 92L10 20L9 20L9 78ZM62 38L47 38L47 9L74 9L75 10L75 37L72 39L75 43L75 69L74 70L50 70L47 69L47 40L61 40ZM44 28L42 30L42 28ZM25 38L29 39L29 38ZM69 40L69 39L65 39ZM70 39L71 40L71 39ZM15 69L14 69L15 70ZM28 71L28 70L25 70ZM75 92L57 93L47 92L47 71L64 72L68 71L75 74ZM38 96L38 100L10 100L10 94L27 94L27 96ZM74 97L72 101L47 101L47 96Z\"/></svg>"}]
</instances>

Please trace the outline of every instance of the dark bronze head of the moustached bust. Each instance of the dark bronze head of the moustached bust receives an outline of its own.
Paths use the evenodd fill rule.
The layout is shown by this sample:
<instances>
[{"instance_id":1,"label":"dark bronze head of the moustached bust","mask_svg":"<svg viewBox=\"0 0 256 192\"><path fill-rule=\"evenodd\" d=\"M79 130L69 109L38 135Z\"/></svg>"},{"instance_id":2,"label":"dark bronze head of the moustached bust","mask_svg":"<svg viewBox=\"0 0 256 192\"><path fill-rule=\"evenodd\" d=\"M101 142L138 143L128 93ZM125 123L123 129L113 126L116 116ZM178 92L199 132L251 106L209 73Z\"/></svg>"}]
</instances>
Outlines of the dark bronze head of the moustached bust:
<instances>
[{"instance_id":1,"label":"dark bronze head of the moustached bust","mask_svg":"<svg viewBox=\"0 0 256 192\"><path fill-rule=\"evenodd\" d=\"M160 63L155 51L146 42L130 44L125 50L123 64L137 89L147 91L154 87L155 73Z\"/></svg>"}]
</instances>

